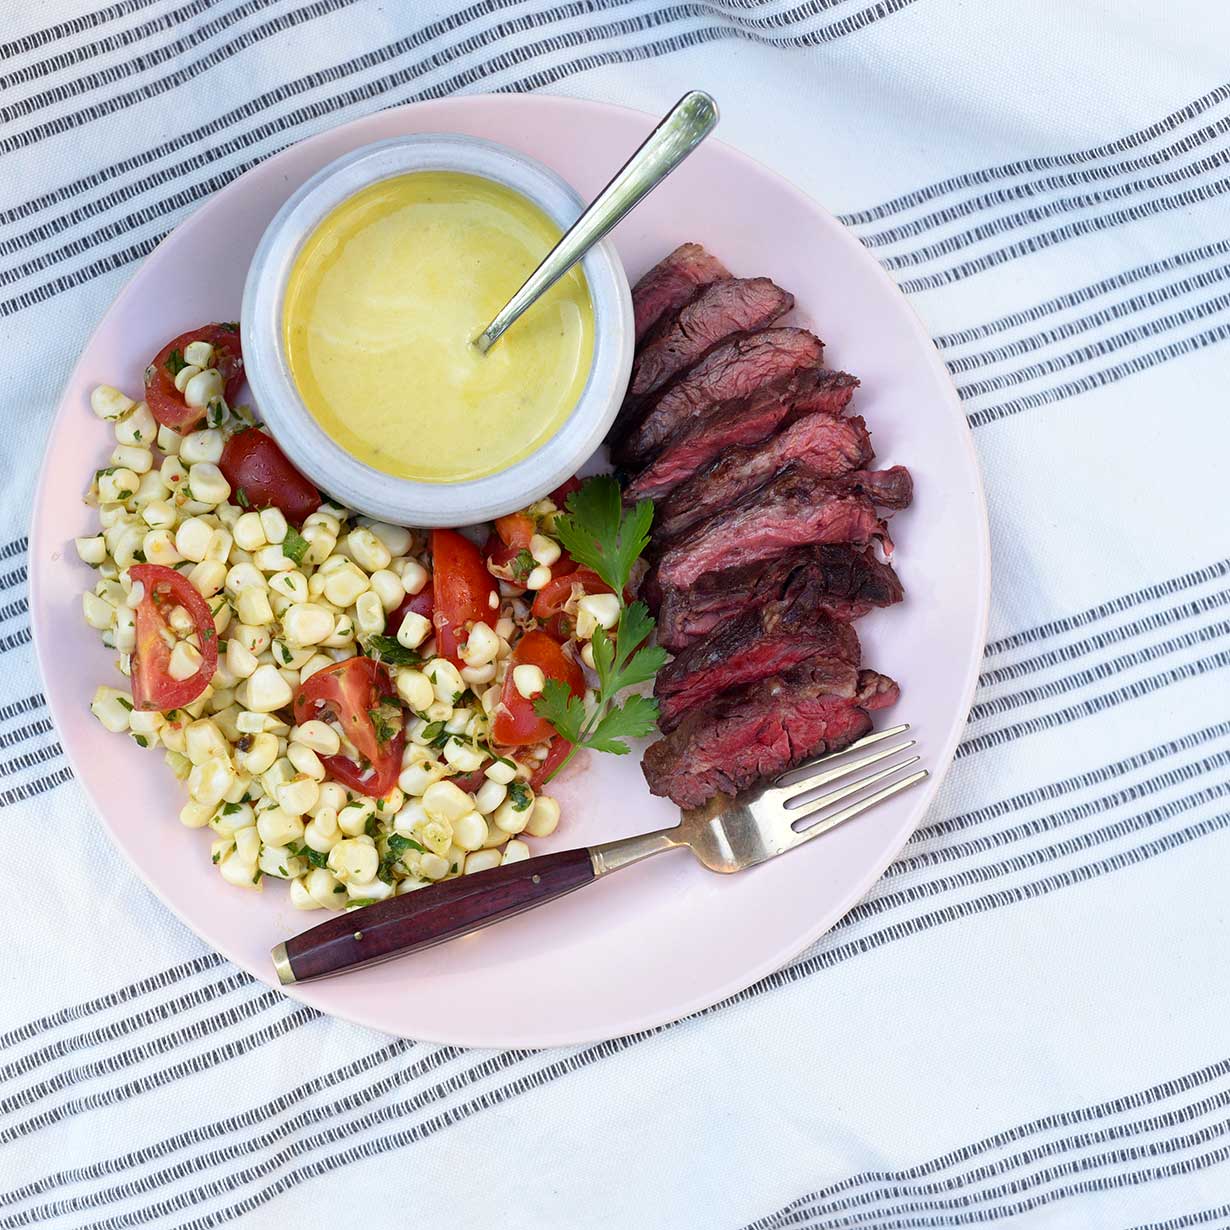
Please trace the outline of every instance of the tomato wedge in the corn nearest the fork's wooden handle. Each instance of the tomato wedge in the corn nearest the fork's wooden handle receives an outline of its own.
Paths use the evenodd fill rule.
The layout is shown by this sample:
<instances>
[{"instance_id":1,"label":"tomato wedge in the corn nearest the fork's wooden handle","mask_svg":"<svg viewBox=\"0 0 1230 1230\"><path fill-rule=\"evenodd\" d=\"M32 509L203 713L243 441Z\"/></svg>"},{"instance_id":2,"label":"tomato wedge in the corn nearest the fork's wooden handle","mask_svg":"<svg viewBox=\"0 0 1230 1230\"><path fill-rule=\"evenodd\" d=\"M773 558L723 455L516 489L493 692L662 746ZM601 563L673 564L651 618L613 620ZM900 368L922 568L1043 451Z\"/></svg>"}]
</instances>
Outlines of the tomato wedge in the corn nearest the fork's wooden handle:
<instances>
[{"instance_id":1,"label":"tomato wedge in the corn nearest the fork's wooden handle","mask_svg":"<svg viewBox=\"0 0 1230 1230\"><path fill-rule=\"evenodd\" d=\"M295 694L295 723L337 722L359 759L321 756L343 786L383 798L397 785L406 747L401 706L387 669L371 658L347 658L310 675Z\"/></svg>"}]
</instances>

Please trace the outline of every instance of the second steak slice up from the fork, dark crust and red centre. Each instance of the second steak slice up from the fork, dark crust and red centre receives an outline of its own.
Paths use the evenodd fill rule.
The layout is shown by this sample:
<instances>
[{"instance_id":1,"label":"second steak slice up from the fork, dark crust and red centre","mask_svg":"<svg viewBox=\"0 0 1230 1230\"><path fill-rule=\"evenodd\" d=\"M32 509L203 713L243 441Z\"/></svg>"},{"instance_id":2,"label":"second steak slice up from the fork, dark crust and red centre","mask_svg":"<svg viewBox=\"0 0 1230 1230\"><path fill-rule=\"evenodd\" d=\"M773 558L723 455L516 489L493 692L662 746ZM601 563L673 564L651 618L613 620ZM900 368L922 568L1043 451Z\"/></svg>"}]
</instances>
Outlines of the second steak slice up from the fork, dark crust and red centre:
<instances>
[{"instance_id":1,"label":"second steak slice up from the fork, dark crust and red centre","mask_svg":"<svg viewBox=\"0 0 1230 1230\"><path fill-rule=\"evenodd\" d=\"M653 685L663 733L718 692L802 662L825 670L831 688L852 691L859 637L849 624L819 614L818 605L817 594L800 589L785 601L744 611L668 662Z\"/></svg>"}]
</instances>

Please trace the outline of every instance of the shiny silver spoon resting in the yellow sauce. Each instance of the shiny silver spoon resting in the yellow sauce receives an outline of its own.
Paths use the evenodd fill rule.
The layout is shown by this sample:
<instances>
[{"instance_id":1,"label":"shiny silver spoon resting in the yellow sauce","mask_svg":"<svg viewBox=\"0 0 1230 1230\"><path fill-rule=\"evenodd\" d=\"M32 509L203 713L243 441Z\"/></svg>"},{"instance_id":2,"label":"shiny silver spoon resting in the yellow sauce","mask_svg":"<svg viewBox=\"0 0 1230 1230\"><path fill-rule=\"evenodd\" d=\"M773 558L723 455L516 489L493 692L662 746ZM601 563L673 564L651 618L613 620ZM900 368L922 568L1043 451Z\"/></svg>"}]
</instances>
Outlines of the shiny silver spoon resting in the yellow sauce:
<instances>
[{"instance_id":1,"label":"shiny silver spoon resting in the yellow sauce","mask_svg":"<svg viewBox=\"0 0 1230 1230\"><path fill-rule=\"evenodd\" d=\"M522 289L474 339L480 353L486 354L530 304L550 290L594 244L605 239L716 125L717 103L704 90L685 93L590 207L568 228L560 242L547 252Z\"/></svg>"}]
</instances>

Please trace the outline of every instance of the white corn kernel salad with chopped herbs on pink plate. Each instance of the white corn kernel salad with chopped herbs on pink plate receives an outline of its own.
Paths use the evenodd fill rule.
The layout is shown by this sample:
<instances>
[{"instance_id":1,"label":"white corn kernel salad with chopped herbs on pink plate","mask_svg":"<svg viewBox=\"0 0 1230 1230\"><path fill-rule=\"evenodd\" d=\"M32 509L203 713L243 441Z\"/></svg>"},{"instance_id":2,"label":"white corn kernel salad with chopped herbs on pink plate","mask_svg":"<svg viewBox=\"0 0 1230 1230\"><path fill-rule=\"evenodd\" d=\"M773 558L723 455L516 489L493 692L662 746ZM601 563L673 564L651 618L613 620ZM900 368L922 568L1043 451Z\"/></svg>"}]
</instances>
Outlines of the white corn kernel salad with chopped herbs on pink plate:
<instances>
[{"instance_id":1,"label":"white corn kernel salad with chopped herbs on pink plate","mask_svg":"<svg viewBox=\"0 0 1230 1230\"><path fill-rule=\"evenodd\" d=\"M490 617L466 629L462 664L454 665L435 654L429 619L411 611L399 627L386 626L430 583L422 531L327 502L295 529L278 508L247 507L242 490L231 490L219 461L229 435L250 419L221 401L208 346L193 346L178 376L191 399L209 406L208 426L180 435L155 422L146 402L111 386L95 390L92 408L113 424L116 446L86 497L98 533L77 539L76 550L97 578L82 595L85 620L114 651L125 680L146 597L129 573L137 563L175 569L208 603L213 630L204 635L216 637L216 669L197 699L166 712L134 706L130 686L100 686L95 717L162 753L187 788L180 820L212 830L209 857L223 879L252 891L285 881L299 909L364 905L528 857L526 839L560 823L558 803L530 786L547 744L517 748L513 758L492 747L491 723L512 652L535 625L534 590L560 557L550 536L555 506L529 510L536 533L528 572L499 579ZM578 592L568 604L578 636L610 626L613 611L617 603L608 595ZM170 678L191 679L202 663L200 635L182 605L166 622L176 633ZM296 724L290 716L292 697L316 672L363 653L371 637L394 637L422 659L389 667L408 712L397 784L379 798L326 770L322 761L346 752L337 722ZM585 658L587 651L569 652ZM513 669L520 695L541 692L538 667Z\"/></svg>"}]
</instances>

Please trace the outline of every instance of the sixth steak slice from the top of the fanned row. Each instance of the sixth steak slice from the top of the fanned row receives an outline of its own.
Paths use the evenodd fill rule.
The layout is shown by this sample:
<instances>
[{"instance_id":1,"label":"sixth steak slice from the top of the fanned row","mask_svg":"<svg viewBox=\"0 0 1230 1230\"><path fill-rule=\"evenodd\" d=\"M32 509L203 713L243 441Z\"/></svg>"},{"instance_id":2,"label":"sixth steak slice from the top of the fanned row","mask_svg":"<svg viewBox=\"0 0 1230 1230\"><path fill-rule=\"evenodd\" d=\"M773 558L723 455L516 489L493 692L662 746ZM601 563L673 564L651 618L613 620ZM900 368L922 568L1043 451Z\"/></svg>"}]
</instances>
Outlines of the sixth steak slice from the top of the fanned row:
<instances>
[{"instance_id":1,"label":"sixth steak slice from the top of the fanned row","mask_svg":"<svg viewBox=\"0 0 1230 1230\"><path fill-rule=\"evenodd\" d=\"M849 486L840 478L786 470L669 545L658 561L658 584L663 590L684 589L706 572L755 563L812 542L866 546L879 539L884 554L892 555L876 506Z\"/></svg>"}]
</instances>

